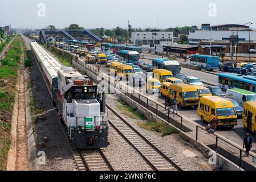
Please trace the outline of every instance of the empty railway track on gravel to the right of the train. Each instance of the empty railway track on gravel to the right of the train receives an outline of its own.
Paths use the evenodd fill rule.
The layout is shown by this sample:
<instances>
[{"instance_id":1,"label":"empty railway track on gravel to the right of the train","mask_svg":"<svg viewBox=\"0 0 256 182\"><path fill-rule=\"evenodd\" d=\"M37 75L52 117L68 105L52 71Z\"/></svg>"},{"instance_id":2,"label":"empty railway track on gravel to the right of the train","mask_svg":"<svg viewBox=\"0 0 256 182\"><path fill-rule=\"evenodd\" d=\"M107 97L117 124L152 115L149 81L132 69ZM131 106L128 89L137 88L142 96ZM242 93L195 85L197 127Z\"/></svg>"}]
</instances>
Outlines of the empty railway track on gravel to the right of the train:
<instances>
[{"instance_id":1,"label":"empty railway track on gravel to the right of the train","mask_svg":"<svg viewBox=\"0 0 256 182\"><path fill-rule=\"evenodd\" d=\"M169 158L155 144L140 134L123 117L116 113L108 105L109 125L113 127L151 166L155 171L182 171L184 167L179 166L174 159Z\"/></svg>"}]
</instances>

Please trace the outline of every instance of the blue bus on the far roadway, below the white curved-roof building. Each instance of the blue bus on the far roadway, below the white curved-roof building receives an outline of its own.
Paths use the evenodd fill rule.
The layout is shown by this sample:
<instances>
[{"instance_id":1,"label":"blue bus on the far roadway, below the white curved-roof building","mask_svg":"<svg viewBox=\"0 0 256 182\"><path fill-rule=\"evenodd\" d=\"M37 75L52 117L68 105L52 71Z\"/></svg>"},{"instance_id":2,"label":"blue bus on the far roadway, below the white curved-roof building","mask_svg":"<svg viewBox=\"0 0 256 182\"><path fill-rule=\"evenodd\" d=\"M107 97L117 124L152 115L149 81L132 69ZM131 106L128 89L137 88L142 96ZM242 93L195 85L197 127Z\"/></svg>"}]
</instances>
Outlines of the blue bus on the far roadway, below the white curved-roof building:
<instances>
[{"instance_id":1,"label":"blue bus on the far roadway, below the white curved-roof building","mask_svg":"<svg viewBox=\"0 0 256 182\"><path fill-rule=\"evenodd\" d=\"M192 55L190 63L210 71L213 71L213 69L219 69L218 56Z\"/></svg>"}]
</instances>

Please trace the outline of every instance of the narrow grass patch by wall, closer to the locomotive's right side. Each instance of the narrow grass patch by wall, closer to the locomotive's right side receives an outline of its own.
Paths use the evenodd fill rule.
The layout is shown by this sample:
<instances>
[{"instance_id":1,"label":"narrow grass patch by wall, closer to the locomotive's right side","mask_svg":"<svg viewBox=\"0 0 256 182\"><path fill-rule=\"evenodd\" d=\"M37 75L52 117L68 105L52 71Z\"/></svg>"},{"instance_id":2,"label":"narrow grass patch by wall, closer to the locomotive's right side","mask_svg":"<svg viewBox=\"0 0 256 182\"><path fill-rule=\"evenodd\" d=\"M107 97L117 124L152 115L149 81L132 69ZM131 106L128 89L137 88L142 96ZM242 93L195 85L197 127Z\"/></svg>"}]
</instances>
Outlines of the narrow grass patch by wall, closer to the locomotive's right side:
<instances>
[{"instance_id":1,"label":"narrow grass patch by wall, closer to the locomotive's right side","mask_svg":"<svg viewBox=\"0 0 256 182\"><path fill-rule=\"evenodd\" d=\"M123 114L127 115L130 118L133 119L146 119L145 115L143 113L140 113L135 107L131 107L128 104L126 104L122 100L117 100L119 102L119 105L117 105L117 108L122 111Z\"/></svg>"}]
</instances>

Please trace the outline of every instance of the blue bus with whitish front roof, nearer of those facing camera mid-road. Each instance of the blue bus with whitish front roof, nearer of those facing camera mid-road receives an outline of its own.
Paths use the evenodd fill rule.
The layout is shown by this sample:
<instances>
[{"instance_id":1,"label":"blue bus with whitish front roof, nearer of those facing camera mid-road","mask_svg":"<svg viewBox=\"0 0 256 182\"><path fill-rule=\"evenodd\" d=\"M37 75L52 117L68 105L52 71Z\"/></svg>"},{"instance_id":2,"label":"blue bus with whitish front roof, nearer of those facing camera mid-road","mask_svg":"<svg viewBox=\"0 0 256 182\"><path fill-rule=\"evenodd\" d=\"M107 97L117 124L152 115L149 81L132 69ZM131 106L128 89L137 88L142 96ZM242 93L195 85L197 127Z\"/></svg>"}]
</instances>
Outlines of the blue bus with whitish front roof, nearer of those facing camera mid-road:
<instances>
[{"instance_id":1,"label":"blue bus with whitish front roof, nearer of those facing camera mid-road","mask_svg":"<svg viewBox=\"0 0 256 182\"><path fill-rule=\"evenodd\" d=\"M173 75L176 75L181 71L180 63L174 60L156 58L152 59L152 65L158 69L167 69L168 71L171 71Z\"/></svg>"}]
</instances>

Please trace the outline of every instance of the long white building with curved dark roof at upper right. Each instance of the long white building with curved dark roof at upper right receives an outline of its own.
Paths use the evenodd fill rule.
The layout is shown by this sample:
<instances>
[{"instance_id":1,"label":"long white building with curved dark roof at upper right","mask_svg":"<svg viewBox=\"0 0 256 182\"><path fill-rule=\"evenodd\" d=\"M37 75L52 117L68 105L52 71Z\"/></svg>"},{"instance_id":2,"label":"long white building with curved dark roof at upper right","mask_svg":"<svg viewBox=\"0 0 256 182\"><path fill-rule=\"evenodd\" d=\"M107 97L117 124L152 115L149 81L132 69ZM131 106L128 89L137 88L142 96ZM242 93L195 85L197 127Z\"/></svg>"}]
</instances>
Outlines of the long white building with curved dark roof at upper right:
<instances>
[{"instance_id":1,"label":"long white building with curved dark roof at upper right","mask_svg":"<svg viewBox=\"0 0 256 182\"><path fill-rule=\"evenodd\" d=\"M239 24L204 27L201 30L189 32L189 44L198 44L204 40L229 40L231 35L237 35L239 41L249 41L249 27ZM256 40L256 31L250 31L250 41Z\"/></svg>"}]
</instances>

